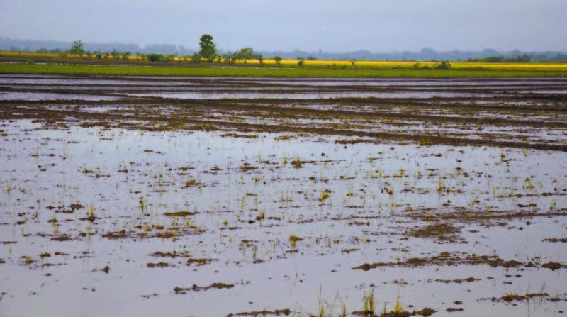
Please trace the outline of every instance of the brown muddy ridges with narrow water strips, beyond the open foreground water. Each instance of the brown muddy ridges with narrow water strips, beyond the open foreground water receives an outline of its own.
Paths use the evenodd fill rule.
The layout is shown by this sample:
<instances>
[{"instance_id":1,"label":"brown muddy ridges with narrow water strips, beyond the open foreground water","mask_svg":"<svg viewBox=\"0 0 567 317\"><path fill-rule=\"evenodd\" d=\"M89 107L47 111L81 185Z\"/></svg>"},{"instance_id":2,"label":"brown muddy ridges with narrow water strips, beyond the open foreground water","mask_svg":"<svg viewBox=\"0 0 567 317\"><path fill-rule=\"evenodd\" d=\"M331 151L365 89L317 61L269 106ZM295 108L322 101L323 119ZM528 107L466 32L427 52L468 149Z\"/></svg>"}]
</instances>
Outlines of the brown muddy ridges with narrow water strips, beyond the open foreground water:
<instances>
[{"instance_id":1,"label":"brown muddy ridges with narrow water strips, beyond the open foreground water","mask_svg":"<svg viewBox=\"0 0 567 317\"><path fill-rule=\"evenodd\" d=\"M0 116L84 127L311 133L357 138L348 142L566 151L566 91L567 79L4 74Z\"/></svg>"}]
</instances>

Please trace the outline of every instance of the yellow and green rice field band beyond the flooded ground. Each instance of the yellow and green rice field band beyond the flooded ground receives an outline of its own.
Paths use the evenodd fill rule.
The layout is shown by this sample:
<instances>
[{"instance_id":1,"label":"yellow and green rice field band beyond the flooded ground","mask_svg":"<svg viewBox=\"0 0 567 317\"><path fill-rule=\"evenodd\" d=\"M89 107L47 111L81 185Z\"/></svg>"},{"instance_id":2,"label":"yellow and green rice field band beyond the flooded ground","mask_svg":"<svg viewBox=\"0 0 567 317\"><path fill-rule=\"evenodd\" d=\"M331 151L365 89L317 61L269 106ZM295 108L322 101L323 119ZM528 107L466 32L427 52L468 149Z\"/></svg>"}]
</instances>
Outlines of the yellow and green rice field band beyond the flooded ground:
<instances>
[{"instance_id":1,"label":"yellow and green rice field band beyond the flooded ground","mask_svg":"<svg viewBox=\"0 0 567 317\"><path fill-rule=\"evenodd\" d=\"M566 77L567 63L482 63L451 62L451 69L436 69L437 62L366 61L366 60L281 60L266 58L237 60L233 65L225 60L213 64L190 65L189 57L174 57L170 64L152 65L140 56L128 60L79 57L37 52L0 52L0 58L16 60L39 59L39 65L1 63L0 73L35 74L108 74L150 76L235 76L235 77ZM51 62L50 62L51 61ZM109 62L131 65L105 65ZM69 65L64 65L64 64ZM141 64L140 64L141 63ZM56 65L54 65L56 64ZM63 64L63 65L62 65ZM99 65L97 65L99 64ZM96 66L96 68L94 67ZM424 67L426 69L424 69Z\"/></svg>"}]
</instances>

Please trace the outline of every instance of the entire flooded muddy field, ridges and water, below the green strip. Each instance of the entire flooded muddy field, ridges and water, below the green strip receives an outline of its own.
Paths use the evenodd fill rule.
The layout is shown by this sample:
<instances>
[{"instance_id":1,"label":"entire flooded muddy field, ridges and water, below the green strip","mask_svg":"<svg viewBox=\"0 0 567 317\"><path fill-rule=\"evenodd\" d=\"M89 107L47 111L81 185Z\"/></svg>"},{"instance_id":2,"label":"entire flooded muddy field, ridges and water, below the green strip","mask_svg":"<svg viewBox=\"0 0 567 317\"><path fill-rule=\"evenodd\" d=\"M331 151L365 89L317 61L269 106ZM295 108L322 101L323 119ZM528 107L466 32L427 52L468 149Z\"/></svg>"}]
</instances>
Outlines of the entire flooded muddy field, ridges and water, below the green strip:
<instances>
[{"instance_id":1,"label":"entire flooded muddy field, ridges and water, below the green strip","mask_svg":"<svg viewBox=\"0 0 567 317\"><path fill-rule=\"evenodd\" d=\"M0 74L0 316L565 316L566 93Z\"/></svg>"}]
</instances>

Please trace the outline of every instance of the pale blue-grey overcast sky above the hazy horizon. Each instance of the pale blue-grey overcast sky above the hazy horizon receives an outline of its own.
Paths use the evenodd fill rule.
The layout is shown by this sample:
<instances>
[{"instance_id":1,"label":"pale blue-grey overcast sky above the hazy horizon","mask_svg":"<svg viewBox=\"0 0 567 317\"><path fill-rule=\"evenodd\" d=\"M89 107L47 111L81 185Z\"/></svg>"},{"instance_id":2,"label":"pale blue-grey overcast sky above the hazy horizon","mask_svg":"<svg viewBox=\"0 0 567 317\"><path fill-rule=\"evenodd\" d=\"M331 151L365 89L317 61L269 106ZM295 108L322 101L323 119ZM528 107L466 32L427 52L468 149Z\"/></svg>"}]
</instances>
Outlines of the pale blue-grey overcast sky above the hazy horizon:
<instances>
[{"instance_id":1,"label":"pale blue-grey overcast sky above the hazy horizon","mask_svg":"<svg viewBox=\"0 0 567 317\"><path fill-rule=\"evenodd\" d=\"M567 50L567 0L0 0L0 36L219 48Z\"/></svg>"}]
</instances>

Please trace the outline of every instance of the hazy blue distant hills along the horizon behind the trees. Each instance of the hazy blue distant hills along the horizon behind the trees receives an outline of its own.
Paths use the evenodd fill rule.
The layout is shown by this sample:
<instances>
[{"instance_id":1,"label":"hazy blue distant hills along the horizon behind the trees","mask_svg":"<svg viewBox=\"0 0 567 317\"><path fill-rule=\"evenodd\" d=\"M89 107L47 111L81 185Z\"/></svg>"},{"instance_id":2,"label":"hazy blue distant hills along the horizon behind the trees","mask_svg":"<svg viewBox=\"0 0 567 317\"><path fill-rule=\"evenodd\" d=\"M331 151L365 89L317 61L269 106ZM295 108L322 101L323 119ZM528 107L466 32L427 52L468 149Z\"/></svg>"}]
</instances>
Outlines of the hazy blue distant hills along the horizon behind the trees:
<instances>
[{"instance_id":1,"label":"hazy blue distant hills along the horizon behind the trees","mask_svg":"<svg viewBox=\"0 0 567 317\"><path fill-rule=\"evenodd\" d=\"M62 42L54 40L14 40L11 38L0 37L0 50L14 51L43 51L43 52L60 52L69 50L71 42ZM133 55L147 53L161 53L173 55L192 55L196 50L185 48L184 46L172 44L157 44L140 46L130 43L90 43L85 42L85 49L91 52L110 52L118 50L119 52L130 52ZM225 51L220 50L221 53ZM418 52L369 52L368 50L357 50L354 52L307 52L302 50L294 50L291 52L283 51L259 51L265 58L279 56L283 58L303 57L306 59L318 60L483 60L487 61L505 61L522 57L522 60L532 62L567 62L567 52L522 52L520 50L512 50L509 52L499 52L493 49L485 49L481 51L437 51L431 48L422 48Z\"/></svg>"}]
</instances>

